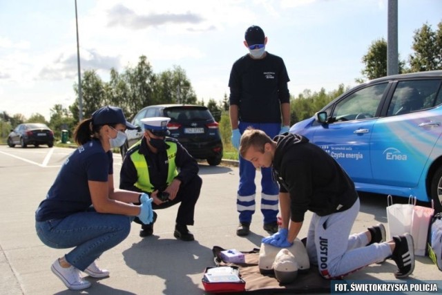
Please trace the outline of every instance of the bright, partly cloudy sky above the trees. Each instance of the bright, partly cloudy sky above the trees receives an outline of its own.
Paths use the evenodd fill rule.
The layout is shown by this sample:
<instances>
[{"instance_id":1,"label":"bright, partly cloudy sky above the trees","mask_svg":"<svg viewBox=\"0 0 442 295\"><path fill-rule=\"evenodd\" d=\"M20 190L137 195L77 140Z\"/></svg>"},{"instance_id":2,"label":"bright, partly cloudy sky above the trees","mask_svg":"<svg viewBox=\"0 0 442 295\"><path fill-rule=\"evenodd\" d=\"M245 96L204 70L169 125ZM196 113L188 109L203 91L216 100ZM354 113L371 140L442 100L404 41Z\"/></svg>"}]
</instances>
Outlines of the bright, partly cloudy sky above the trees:
<instances>
[{"instance_id":1,"label":"bright, partly cloudy sky above the trees","mask_svg":"<svg viewBox=\"0 0 442 295\"><path fill-rule=\"evenodd\" d=\"M181 66L198 99L229 95L231 66L247 53L244 31L261 26L284 59L289 90L355 86L361 58L387 39L387 0L77 0L81 70L104 81L146 55L155 73ZM414 31L442 21L442 1L398 0L398 51ZM77 78L74 0L0 0L0 111L49 119L73 104Z\"/></svg>"}]
</instances>

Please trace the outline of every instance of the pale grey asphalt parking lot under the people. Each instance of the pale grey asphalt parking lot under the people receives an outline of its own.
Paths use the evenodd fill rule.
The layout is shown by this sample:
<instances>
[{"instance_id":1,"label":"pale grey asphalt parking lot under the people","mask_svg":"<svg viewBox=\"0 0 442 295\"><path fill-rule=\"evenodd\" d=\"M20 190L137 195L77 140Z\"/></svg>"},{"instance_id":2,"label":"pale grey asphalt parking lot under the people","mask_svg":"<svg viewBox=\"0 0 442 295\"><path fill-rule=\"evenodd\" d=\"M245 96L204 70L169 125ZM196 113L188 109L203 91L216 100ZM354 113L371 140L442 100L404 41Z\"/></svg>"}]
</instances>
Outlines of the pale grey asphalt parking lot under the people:
<instances>
[{"instance_id":1,"label":"pale grey asphalt parking lot under the people","mask_svg":"<svg viewBox=\"0 0 442 295\"><path fill-rule=\"evenodd\" d=\"M66 250L43 245L34 226L35 209L70 152L72 149L49 149L46 146L30 146L28 149L0 146L1 294L73 294L50 271L52 262ZM119 154L114 155L114 161L114 181L118 184ZM202 192L195 209L195 225L190 227L195 235L194 242L173 238L176 206L157 211L154 235L140 238L140 226L134 224L128 238L104 253L97 262L100 267L109 269L111 276L90 279L92 287L79 293L204 294L201 278L205 267L213 266L213 246L240 251L259 247L261 238L267 236L262 229L259 211L253 217L252 233L245 238L236 236L238 168L202 163L200 175ZM260 191L259 178L257 186ZM257 195L259 199L259 193ZM386 226L386 205L386 196L361 196L361 212L354 224L354 232L364 231L378 222ZM306 233L307 227L303 227L300 238ZM348 279L391 281L394 280L394 270L396 265L387 260L383 265L372 265L351 274ZM441 288L442 272L430 258L418 256L414 274L407 281L428 280L437 280Z\"/></svg>"}]
</instances>

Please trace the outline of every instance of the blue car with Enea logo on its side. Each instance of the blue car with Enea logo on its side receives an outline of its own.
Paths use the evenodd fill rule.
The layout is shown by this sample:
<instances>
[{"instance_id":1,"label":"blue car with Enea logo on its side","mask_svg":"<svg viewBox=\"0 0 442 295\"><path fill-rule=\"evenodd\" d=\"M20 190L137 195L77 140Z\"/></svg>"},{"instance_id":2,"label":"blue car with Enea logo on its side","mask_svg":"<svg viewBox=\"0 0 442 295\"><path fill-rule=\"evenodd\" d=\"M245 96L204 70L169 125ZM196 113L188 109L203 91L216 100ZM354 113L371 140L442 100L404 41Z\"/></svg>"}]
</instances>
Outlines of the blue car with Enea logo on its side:
<instances>
[{"instance_id":1,"label":"blue car with Enea logo on its side","mask_svg":"<svg viewBox=\"0 0 442 295\"><path fill-rule=\"evenodd\" d=\"M358 191L434 200L442 211L442 70L374 79L291 126L335 158Z\"/></svg>"}]
</instances>

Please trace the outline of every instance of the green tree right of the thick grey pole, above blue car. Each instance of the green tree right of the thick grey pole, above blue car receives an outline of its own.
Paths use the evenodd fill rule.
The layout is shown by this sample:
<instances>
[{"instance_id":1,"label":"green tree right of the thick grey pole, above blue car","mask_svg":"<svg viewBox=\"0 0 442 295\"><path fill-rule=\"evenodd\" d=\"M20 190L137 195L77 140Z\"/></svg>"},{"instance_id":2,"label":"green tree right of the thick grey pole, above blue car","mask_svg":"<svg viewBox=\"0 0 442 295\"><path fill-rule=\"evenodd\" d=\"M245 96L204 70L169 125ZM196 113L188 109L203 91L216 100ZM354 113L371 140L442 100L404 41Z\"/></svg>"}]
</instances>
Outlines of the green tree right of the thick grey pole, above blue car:
<instances>
[{"instance_id":1,"label":"green tree right of the thick grey pole, above blue car","mask_svg":"<svg viewBox=\"0 0 442 295\"><path fill-rule=\"evenodd\" d=\"M436 32L427 23L421 29L416 30L412 49L414 50L414 54L410 55L410 70L412 72L441 70L442 22L439 23Z\"/></svg>"}]
</instances>

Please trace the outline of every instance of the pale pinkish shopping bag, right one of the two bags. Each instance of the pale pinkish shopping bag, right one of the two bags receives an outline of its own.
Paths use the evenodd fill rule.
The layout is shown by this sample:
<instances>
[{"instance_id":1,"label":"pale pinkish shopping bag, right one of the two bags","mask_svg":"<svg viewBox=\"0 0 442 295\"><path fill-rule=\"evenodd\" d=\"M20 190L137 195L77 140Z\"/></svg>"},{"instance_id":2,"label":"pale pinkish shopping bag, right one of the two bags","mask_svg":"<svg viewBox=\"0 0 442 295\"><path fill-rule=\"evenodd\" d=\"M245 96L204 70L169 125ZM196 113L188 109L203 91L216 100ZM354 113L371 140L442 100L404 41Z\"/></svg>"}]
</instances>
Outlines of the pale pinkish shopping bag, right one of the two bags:
<instances>
[{"instance_id":1,"label":"pale pinkish shopping bag, right one of the two bags","mask_svg":"<svg viewBox=\"0 0 442 295\"><path fill-rule=\"evenodd\" d=\"M422 206L413 207L412 229L410 234L414 240L414 254L418 256L425 256L428 227L430 227L430 221L433 214L433 208Z\"/></svg>"}]
</instances>

